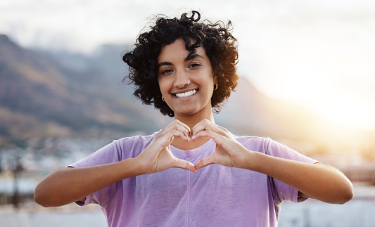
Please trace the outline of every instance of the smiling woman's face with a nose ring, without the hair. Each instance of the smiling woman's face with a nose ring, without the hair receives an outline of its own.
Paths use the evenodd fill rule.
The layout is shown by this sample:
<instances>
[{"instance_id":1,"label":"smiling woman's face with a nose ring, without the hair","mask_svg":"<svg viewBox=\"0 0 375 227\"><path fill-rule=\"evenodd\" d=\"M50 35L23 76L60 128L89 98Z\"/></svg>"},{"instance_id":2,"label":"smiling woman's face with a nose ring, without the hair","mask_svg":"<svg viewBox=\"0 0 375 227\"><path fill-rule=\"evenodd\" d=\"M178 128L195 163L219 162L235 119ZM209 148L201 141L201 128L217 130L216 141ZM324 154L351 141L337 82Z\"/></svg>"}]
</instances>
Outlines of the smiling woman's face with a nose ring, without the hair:
<instances>
[{"instance_id":1,"label":"smiling woman's face with a nose ring, without the hair","mask_svg":"<svg viewBox=\"0 0 375 227\"><path fill-rule=\"evenodd\" d=\"M174 116L212 115L211 97L216 78L202 47L189 56L184 41L163 46L158 56L160 91Z\"/></svg>"}]
</instances>

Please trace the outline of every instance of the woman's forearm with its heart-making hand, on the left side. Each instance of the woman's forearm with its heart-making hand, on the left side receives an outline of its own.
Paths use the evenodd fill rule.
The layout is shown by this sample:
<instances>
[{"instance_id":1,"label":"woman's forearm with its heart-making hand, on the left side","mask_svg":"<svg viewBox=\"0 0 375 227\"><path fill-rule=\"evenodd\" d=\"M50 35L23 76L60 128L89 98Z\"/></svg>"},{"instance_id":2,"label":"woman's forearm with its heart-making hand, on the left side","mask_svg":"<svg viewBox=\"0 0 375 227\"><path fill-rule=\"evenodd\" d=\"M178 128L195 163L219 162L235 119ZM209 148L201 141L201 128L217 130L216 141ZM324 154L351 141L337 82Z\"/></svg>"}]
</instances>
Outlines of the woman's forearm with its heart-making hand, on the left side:
<instances>
[{"instance_id":1,"label":"woman's forearm with its heart-making hand, on the left side","mask_svg":"<svg viewBox=\"0 0 375 227\"><path fill-rule=\"evenodd\" d=\"M67 168L53 171L35 188L34 200L44 207L58 207L94 193L106 186L141 174L151 174L172 167L196 172L191 162L172 155L174 136L189 140L190 129L177 120L160 131L137 157L94 167Z\"/></svg>"}]
</instances>

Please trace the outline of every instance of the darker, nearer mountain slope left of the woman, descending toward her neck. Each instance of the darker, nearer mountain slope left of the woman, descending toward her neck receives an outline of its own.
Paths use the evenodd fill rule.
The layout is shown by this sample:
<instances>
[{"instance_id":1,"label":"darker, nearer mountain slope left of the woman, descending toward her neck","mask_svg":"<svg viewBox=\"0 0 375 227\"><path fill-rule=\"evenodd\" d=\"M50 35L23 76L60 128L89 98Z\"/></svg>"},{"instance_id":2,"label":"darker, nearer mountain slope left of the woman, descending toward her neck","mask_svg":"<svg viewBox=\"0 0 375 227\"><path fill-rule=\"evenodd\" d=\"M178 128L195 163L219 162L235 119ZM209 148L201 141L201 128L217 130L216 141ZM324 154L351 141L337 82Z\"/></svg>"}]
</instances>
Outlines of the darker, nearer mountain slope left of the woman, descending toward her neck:
<instances>
[{"instance_id":1,"label":"darker, nearer mountain slope left of the woman, descending toward her neck","mask_svg":"<svg viewBox=\"0 0 375 227\"><path fill-rule=\"evenodd\" d=\"M94 60L89 65L66 67L1 35L0 143L160 129L160 118L117 92L123 74L113 83Z\"/></svg>"}]
</instances>

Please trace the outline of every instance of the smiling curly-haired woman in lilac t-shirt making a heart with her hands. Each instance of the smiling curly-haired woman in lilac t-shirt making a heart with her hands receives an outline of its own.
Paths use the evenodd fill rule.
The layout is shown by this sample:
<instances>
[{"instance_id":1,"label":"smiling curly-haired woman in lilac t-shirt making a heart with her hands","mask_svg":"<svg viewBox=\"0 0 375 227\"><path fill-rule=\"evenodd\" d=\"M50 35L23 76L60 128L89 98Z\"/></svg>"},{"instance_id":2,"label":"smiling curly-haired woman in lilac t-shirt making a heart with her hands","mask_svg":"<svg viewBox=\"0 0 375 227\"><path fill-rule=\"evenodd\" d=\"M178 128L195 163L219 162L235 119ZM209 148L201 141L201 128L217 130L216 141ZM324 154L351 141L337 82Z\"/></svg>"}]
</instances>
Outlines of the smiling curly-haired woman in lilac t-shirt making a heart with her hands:
<instances>
[{"instance_id":1,"label":"smiling curly-haired woman in lilac t-shirt making a heart with her hands","mask_svg":"<svg viewBox=\"0 0 375 227\"><path fill-rule=\"evenodd\" d=\"M212 108L237 84L236 39L230 22L199 20L160 17L123 57L134 94L174 121L49 174L35 189L40 205L97 203L108 226L277 226L284 200L352 198L337 169L215 124Z\"/></svg>"}]
</instances>

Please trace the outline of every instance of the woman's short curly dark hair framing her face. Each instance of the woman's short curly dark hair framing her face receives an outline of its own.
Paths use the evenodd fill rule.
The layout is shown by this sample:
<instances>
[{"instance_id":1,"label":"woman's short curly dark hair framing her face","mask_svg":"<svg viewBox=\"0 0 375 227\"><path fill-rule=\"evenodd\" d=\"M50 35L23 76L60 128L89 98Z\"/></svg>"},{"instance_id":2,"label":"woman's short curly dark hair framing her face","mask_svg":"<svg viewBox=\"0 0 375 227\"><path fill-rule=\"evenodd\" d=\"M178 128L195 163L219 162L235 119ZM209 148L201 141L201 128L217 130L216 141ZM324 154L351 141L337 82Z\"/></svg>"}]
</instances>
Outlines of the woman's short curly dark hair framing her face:
<instances>
[{"instance_id":1,"label":"woman's short curly dark hair framing her face","mask_svg":"<svg viewBox=\"0 0 375 227\"><path fill-rule=\"evenodd\" d=\"M236 64L239 54L237 40L231 35L231 21L225 24L221 20L215 23L209 20L198 22L201 14L192 11L191 17L183 13L180 19L160 16L151 30L139 35L133 51L122 57L129 65L129 75L123 79L134 84L134 96L147 105L154 104L163 115L174 117L173 110L162 100L158 84L158 56L163 46L183 39L186 50L195 53L203 47L210 58L212 73L217 77L217 90L212 94L211 105L214 112L220 112L222 103L229 98L237 86L239 76ZM195 41L191 44L191 40Z\"/></svg>"}]
</instances>

